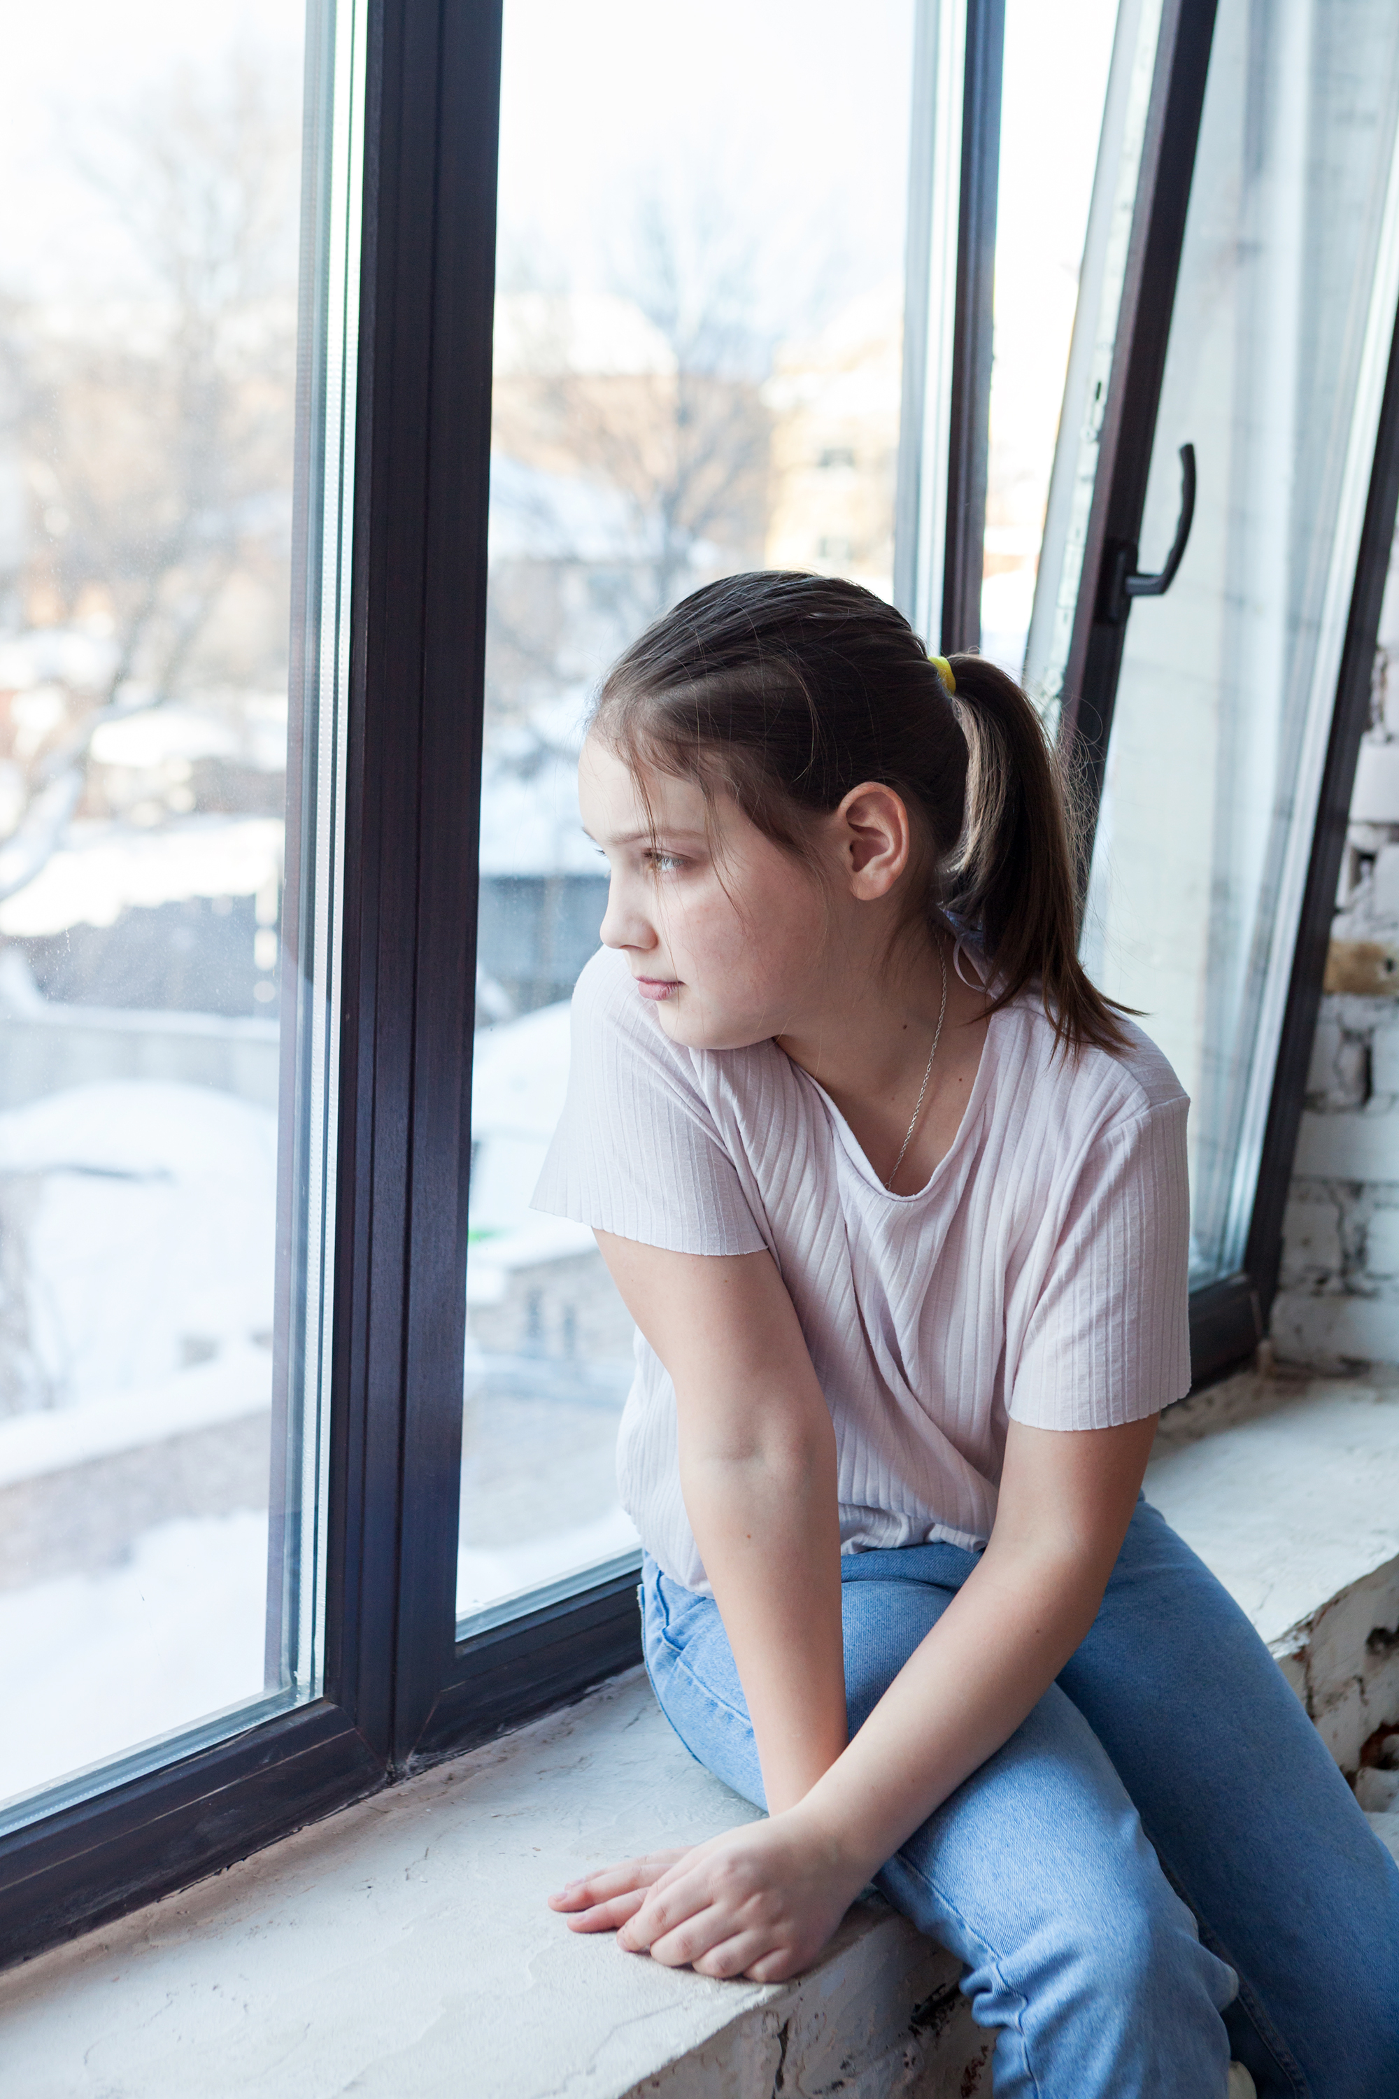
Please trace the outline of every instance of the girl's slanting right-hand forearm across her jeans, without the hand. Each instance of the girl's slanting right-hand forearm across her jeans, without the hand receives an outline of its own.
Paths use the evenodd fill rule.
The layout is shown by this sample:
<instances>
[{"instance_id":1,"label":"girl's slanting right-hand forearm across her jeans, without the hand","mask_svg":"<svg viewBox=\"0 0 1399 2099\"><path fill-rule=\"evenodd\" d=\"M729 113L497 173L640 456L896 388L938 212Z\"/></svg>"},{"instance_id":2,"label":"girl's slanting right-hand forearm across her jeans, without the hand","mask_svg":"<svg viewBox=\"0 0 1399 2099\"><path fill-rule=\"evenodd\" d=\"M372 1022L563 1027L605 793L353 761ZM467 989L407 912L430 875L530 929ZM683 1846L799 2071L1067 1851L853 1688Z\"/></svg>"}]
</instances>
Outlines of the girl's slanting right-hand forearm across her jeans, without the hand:
<instances>
[{"instance_id":1,"label":"girl's slanting right-hand forearm across her jeans, without the hand","mask_svg":"<svg viewBox=\"0 0 1399 2099\"><path fill-rule=\"evenodd\" d=\"M1082 1560L996 1553L992 1541L797 1809L852 1895L1015 1734L1089 1631L1101 1589Z\"/></svg>"}]
</instances>

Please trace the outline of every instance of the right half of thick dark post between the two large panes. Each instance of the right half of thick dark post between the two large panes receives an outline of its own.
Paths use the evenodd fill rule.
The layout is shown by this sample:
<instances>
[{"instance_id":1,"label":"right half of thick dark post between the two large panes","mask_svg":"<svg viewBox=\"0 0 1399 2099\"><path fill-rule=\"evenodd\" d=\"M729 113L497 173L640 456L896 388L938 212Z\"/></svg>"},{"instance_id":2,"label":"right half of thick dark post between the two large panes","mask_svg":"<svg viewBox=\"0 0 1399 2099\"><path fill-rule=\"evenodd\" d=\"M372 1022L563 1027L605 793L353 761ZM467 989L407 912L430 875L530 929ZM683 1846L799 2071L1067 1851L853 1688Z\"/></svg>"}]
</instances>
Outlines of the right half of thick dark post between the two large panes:
<instances>
[{"instance_id":1,"label":"right half of thick dark post between the two large panes","mask_svg":"<svg viewBox=\"0 0 1399 2099\"><path fill-rule=\"evenodd\" d=\"M493 0L440 6L432 59L424 25L415 67L403 76L405 109L411 103L424 128L436 84L438 134L430 309L422 315L428 376L422 397L405 403L409 418L426 422L428 472L396 1763L419 1742L451 1673L455 1635L499 69L501 6Z\"/></svg>"}]
</instances>

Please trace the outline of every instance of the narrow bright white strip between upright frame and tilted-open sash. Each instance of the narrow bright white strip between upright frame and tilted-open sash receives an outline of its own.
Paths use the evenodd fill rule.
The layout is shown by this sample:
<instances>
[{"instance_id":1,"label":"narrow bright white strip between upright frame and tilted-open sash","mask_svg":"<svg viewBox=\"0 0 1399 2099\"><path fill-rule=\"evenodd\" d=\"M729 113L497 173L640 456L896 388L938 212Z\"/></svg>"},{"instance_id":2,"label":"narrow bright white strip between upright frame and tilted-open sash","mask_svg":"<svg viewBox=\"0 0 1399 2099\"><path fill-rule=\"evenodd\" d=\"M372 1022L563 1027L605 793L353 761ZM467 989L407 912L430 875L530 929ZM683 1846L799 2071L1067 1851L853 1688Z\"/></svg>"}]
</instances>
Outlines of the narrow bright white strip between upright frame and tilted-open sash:
<instances>
[{"instance_id":1,"label":"narrow bright white strip between upright frame and tilted-open sash","mask_svg":"<svg viewBox=\"0 0 1399 2099\"><path fill-rule=\"evenodd\" d=\"M1135 0L1124 15L1135 21ZM982 653L1013 678L1026 661L1116 25L1118 0L1005 8Z\"/></svg>"}]
</instances>

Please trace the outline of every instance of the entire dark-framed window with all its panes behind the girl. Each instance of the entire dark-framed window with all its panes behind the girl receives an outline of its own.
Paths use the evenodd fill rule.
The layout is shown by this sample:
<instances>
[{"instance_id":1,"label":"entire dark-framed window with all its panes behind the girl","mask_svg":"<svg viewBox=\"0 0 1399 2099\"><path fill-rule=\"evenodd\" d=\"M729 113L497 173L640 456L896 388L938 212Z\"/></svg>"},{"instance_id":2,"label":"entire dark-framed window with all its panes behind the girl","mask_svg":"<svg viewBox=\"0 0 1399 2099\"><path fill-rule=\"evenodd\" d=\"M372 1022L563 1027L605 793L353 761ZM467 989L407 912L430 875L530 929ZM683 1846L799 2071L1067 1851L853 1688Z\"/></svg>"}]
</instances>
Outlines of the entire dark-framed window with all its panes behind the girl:
<instances>
[{"instance_id":1,"label":"entire dark-framed window with all its panes behind the girl","mask_svg":"<svg viewBox=\"0 0 1399 2099\"><path fill-rule=\"evenodd\" d=\"M1166 1024L1210 997L1225 1052L1202 1274L1252 1205L1267 1297L1399 489L1380 8L1365 126L1275 31L1319 187L1237 8L1214 57L1181 0L1072 10L1097 170L1082 141L1053 170L1019 426L1057 0L879 0L854 38L835 0L724 0L703 36L642 0L143 4L0 0L0 1958L638 1658L631 1331L529 1194L604 896L587 693L696 584L816 560L929 642L1024 649L1107 779L1110 942L1166 896L1170 840L1137 861L1170 745L1237 903L1166 896L1152 934L1185 955ZM1242 141L1279 143L1273 246L1237 241ZM1200 437L1210 359L1235 399L1261 340L1326 401L1273 516L1265 640L1305 676L1271 716L1200 571L1156 628L1103 617L1154 441L1152 546L1179 443L1221 544L1210 476L1288 449L1261 390L1263 451ZM1187 611L1208 762L1158 705ZM1311 754L1282 829L1240 707L1273 783Z\"/></svg>"}]
</instances>

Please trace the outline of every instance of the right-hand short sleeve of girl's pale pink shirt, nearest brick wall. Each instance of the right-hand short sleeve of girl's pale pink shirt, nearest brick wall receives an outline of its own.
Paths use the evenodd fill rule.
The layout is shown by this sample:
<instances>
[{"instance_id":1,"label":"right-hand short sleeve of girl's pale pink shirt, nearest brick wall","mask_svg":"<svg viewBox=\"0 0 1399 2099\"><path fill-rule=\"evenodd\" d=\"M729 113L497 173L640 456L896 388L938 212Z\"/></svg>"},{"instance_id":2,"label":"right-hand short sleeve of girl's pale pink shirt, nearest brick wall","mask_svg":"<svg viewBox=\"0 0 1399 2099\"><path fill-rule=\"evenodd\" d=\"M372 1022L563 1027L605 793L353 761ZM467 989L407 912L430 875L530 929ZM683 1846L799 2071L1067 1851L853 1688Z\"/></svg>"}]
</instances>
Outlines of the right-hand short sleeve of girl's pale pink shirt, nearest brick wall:
<instances>
[{"instance_id":1,"label":"right-hand short sleeve of girl's pale pink shirt, nearest brick wall","mask_svg":"<svg viewBox=\"0 0 1399 2099\"><path fill-rule=\"evenodd\" d=\"M1011 1421L1101 1429L1189 1392L1183 1096L1086 1148L1007 1394Z\"/></svg>"}]
</instances>

